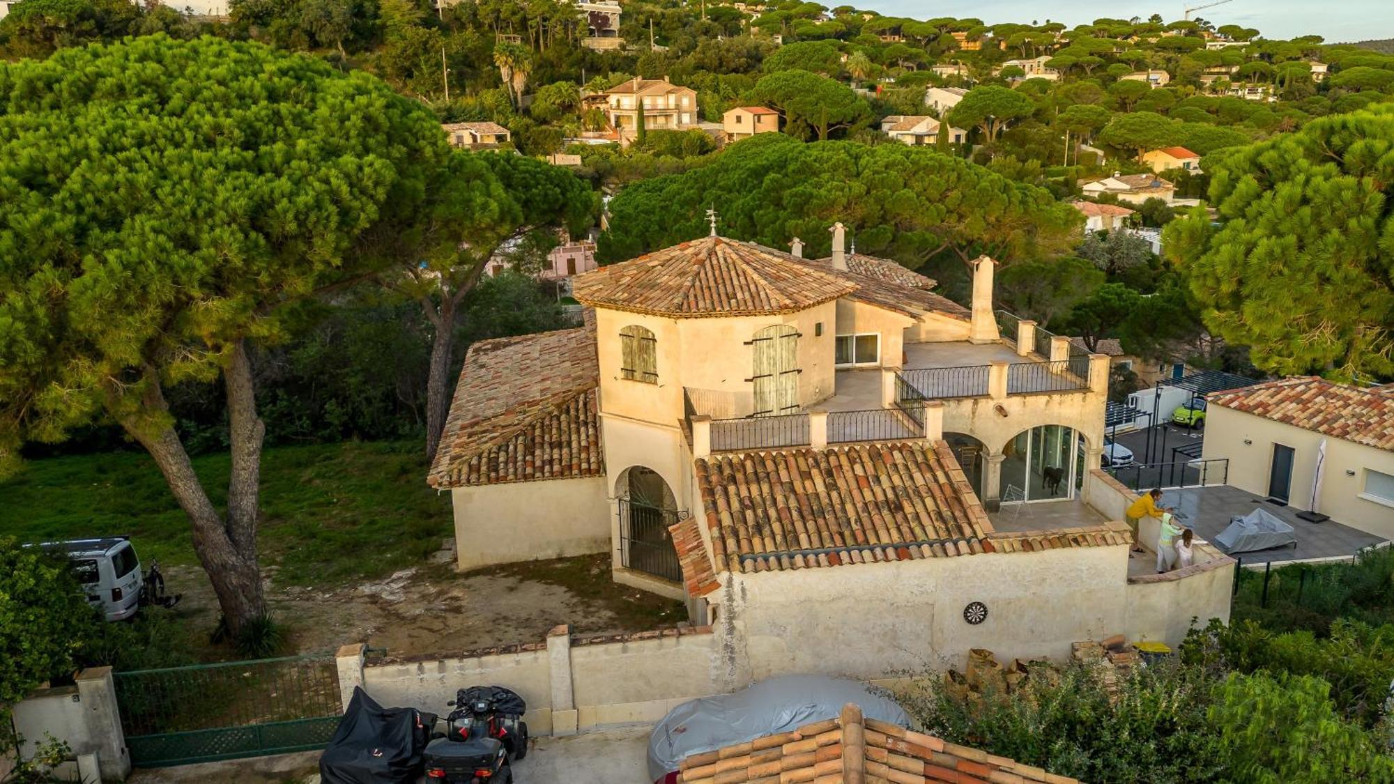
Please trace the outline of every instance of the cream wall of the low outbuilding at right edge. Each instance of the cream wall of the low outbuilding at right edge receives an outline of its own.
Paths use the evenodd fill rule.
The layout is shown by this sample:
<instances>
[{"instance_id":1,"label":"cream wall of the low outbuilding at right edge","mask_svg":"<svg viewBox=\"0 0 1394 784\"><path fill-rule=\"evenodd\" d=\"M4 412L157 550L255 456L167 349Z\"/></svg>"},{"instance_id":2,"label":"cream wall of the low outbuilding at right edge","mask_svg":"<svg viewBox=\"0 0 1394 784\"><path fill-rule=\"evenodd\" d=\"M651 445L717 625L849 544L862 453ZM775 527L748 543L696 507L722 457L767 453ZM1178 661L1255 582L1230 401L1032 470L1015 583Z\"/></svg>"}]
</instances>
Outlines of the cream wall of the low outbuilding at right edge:
<instances>
[{"instance_id":1,"label":"cream wall of the low outbuilding at right edge","mask_svg":"<svg viewBox=\"0 0 1394 784\"><path fill-rule=\"evenodd\" d=\"M1333 520L1361 529L1374 536L1394 538L1394 508L1370 498L1365 491L1365 474L1373 469L1394 474L1394 452L1376 449L1344 438L1322 435L1310 430L1273 421L1270 419L1210 406L1206 413L1206 439L1202 458L1228 458L1228 484L1267 495L1273 469L1273 445L1294 449L1292 488L1289 505L1295 509L1312 506L1312 481L1316 476L1316 456L1326 439L1326 469L1317 511ZM1245 439L1252 444L1245 444ZM1347 474L1354 472L1354 476Z\"/></svg>"}]
</instances>

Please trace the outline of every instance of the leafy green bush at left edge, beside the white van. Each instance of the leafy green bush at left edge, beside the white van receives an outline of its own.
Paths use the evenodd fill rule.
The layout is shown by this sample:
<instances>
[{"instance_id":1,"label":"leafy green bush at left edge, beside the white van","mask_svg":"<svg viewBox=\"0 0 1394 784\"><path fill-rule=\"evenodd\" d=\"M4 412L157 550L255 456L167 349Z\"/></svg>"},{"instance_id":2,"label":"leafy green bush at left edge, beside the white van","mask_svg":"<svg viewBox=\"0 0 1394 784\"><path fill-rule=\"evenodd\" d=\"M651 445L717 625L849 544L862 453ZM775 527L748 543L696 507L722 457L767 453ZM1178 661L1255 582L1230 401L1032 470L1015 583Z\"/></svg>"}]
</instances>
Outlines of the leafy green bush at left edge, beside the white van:
<instances>
[{"instance_id":1,"label":"leafy green bush at left edge, beside the white van","mask_svg":"<svg viewBox=\"0 0 1394 784\"><path fill-rule=\"evenodd\" d=\"M93 622L66 558L0 538L0 706L71 674Z\"/></svg>"}]
</instances>

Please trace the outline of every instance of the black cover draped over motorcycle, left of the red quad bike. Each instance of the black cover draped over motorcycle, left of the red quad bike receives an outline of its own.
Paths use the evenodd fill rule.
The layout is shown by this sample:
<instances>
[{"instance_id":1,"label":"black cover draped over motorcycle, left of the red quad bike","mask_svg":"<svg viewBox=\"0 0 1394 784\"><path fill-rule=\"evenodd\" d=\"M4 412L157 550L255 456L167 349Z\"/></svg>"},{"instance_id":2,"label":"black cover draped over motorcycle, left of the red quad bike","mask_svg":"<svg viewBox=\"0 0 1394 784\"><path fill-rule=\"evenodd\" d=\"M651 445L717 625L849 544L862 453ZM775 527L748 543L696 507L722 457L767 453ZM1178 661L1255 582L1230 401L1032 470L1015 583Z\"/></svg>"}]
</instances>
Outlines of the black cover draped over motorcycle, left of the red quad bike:
<instances>
[{"instance_id":1,"label":"black cover draped over motorcycle, left of the red quad bike","mask_svg":"<svg viewBox=\"0 0 1394 784\"><path fill-rule=\"evenodd\" d=\"M413 784L421 776L427 731L415 709L382 707L354 686L348 710L319 757L323 784Z\"/></svg>"}]
</instances>

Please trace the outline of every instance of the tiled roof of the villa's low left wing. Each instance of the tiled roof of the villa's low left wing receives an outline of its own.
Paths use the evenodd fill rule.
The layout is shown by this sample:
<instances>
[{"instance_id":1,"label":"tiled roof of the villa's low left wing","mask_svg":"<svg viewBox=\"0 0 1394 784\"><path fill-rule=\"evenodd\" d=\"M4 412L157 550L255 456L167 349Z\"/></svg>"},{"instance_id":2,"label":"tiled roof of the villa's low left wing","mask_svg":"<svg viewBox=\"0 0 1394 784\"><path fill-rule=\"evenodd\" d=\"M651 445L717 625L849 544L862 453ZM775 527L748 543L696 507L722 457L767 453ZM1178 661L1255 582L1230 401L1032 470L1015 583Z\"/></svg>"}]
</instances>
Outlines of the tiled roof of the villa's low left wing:
<instances>
[{"instance_id":1,"label":"tiled roof of the villa's low left wing","mask_svg":"<svg viewBox=\"0 0 1394 784\"><path fill-rule=\"evenodd\" d=\"M592 329L470 346L427 483L464 487L604 474Z\"/></svg>"}]
</instances>

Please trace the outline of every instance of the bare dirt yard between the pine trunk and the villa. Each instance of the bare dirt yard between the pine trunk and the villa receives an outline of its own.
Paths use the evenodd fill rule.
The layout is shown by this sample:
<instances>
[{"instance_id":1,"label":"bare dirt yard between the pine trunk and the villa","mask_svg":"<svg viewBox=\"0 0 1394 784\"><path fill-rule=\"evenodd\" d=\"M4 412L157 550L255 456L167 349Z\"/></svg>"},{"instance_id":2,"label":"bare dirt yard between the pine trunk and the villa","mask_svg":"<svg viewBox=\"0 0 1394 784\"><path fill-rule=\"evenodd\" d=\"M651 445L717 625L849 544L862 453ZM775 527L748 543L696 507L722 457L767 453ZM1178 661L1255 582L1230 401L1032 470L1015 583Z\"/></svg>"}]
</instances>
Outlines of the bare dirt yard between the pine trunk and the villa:
<instances>
[{"instance_id":1,"label":"bare dirt yard between the pine trunk and the villa","mask_svg":"<svg viewBox=\"0 0 1394 784\"><path fill-rule=\"evenodd\" d=\"M559 624L576 633L619 633L686 621L682 604L611 580L606 555L538 561L460 575L453 551L386 579L335 587L277 585L263 569L272 617L290 629L296 653L365 642L392 656L450 653L539 642ZM304 580L297 580L304 582ZM212 629L217 603L197 568L170 568L167 611L181 626Z\"/></svg>"}]
</instances>

